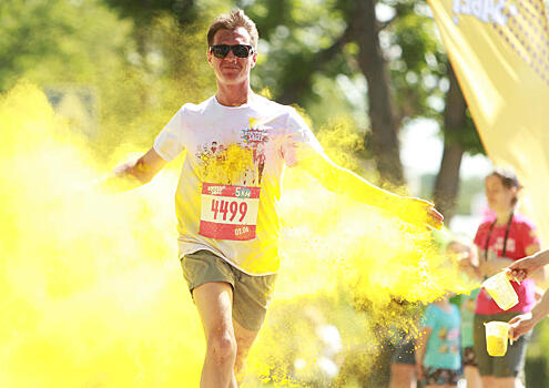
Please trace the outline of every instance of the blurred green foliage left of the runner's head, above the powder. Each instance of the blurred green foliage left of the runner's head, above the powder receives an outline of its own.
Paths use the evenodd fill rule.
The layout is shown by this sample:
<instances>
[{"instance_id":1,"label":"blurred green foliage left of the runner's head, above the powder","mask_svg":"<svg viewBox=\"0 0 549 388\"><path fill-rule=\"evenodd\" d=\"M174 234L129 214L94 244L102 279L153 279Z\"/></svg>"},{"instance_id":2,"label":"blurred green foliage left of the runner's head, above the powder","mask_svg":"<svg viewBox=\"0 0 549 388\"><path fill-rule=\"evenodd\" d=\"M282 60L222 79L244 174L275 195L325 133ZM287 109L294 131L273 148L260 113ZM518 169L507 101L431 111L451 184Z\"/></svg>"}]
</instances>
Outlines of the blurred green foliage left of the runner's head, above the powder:
<instances>
[{"instance_id":1,"label":"blurred green foliage left of the runner's head, above the powder","mask_svg":"<svg viewBox=\"0 0 549 388\"><path fill-rule=\"evenodd\" d=\"M183 29L163 1L150 2L150 13L135 2L120 2L114 11L101 0L1 2L0 90L21 78L58 99L87 90L98 156L125 143L150 146L183 102L202 101L215 90L205 34L216 12L228 7L210 4L196 8L201 18Z\"/></svg>"}]
</instances>

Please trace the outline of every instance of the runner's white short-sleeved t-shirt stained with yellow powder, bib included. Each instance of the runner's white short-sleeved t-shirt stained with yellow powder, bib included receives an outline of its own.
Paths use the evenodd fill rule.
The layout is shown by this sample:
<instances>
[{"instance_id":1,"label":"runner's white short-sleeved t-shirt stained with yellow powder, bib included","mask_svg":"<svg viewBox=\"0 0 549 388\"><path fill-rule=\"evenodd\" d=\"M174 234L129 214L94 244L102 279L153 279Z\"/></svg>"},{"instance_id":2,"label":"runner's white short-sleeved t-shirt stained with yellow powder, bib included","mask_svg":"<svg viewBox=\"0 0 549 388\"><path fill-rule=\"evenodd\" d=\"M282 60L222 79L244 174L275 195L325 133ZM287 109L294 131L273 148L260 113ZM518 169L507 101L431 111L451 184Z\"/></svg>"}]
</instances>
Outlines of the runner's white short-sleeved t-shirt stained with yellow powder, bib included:
<instances>
[{"instance_id":1,"label":"runner's white short-sleeved t-shirt stained with yellow powder, bib included","mask_svg":"<svg viewBox=\"0 0 549 388\"><path fill-rule=\"evenodd\" d=\"M254 94L241 106L215 96L184 104L154 141L186 157L175 193L180 257L207 249L250 275L278 269L277 202L284 166L322 146L297 112Z\"/></svg>"}]
</instances>

